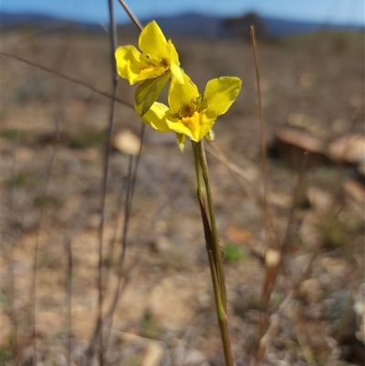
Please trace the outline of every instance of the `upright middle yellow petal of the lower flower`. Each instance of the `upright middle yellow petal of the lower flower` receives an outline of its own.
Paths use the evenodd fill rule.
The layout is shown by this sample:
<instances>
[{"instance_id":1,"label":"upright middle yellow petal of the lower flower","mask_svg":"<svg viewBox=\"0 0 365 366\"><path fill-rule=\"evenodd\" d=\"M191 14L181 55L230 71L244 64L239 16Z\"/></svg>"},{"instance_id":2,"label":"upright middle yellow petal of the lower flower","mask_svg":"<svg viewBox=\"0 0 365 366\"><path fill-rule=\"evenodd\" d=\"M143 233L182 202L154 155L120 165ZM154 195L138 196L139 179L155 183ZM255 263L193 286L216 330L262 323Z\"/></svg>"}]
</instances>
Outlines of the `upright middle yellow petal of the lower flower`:
<instances>
[{"instance_id":1,"label":"upright middle yellow petal of the lower flower","mask_svg":"<svg viewBox=\"0 0 365 366\"><path fill-rule=\"evenodd\" d=\"M169 89L169 106L173 113L178 113L184 106L189 106L199 97L199 90L193 81L183 73L183 84L178 78L172 78Z\"/></svg>"}]
</instances>

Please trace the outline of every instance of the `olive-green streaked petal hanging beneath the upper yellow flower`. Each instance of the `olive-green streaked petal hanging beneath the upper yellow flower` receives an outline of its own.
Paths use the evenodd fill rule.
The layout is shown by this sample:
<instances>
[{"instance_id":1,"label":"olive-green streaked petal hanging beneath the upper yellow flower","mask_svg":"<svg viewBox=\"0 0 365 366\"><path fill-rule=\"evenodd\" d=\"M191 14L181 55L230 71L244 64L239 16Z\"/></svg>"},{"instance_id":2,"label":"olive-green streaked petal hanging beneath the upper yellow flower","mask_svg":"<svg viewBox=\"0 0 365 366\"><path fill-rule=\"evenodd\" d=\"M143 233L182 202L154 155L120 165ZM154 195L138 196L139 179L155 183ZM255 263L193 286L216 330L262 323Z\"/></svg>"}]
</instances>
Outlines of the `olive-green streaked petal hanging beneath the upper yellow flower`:
<instances>
[{"instance_id":1,"label":"olive-green streaked petal hanging beneath the upper yellow flower","mask_svg":"<svg viewBox=\"0 0 365 366\"><path fill-rule=\"evenodd\" d=\"M169 81L171 73L162 74L158 78L149 78L148 80L141 83L136 89L134 99L137 106L141 106L141 117L143 114L150 110L151 105L159 98L163 87Z\"/></svg>"}]
</instances>

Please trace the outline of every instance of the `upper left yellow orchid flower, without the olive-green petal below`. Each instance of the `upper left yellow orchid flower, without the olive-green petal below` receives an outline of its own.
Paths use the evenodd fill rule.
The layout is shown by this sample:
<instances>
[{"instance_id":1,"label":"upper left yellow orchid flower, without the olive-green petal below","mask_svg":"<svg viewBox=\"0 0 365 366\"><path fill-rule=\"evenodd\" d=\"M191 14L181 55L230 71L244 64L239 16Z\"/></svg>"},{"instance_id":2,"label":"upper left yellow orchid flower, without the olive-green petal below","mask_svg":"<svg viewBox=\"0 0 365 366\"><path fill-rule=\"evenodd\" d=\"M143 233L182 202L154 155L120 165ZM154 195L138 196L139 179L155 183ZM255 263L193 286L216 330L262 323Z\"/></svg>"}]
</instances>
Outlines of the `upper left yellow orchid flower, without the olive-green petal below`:
<instances>
[{"instance_id":1,"label":"upper left yellow orchid flower, without the olive-green petal below","mask_svg":"<svg viewBox=\"0 0 365 366\"><path fill-rule=\"evenodd\" d=\"M115 58L120 78L127 78L130 85L133 85L171 72L180 83L183 83L179 55L172 41L166 40L155 21L141 31L139 47L141 52L134 46L117 48Z\"/></svg>"}]
</instances>

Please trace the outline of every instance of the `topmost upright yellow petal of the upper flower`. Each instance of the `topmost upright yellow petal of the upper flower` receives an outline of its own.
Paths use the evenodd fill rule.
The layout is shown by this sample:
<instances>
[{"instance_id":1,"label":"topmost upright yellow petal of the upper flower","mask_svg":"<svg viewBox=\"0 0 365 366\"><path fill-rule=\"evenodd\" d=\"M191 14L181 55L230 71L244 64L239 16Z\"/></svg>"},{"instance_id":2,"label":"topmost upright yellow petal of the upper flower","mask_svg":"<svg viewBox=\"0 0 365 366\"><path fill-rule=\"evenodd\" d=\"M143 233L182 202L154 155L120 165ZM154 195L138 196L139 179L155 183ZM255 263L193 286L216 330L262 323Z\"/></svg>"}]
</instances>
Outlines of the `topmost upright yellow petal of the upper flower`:
<instances>
[{"instance_id":1,"label":"topmost upright yellow petal of the upper flower","mask_svg":"<svg viewBox=\"0 0 365 366\"><path fill-rule=\"evenodd\" d=\"M139 46L152 59L161 61L170 58L167 40L154 20L141 31Z\"/></svg>"}]
</instances>

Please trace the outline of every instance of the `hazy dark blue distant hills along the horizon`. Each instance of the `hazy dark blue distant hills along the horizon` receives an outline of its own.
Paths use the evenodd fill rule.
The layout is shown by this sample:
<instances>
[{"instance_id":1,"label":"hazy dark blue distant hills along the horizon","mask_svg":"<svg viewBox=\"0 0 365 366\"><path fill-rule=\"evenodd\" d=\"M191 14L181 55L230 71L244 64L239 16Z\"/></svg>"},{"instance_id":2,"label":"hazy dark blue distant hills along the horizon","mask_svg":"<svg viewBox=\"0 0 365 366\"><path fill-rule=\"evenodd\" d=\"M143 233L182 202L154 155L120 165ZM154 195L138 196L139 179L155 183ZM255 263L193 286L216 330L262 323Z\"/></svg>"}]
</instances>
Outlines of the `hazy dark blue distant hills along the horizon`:
<instances>
[{"instance_id":1,"label":"hazy dark blue distant hills along the horizon","mask_svg":"<svg viewBox=\"0 0 365 366\"><path fill-rule=\"evenodd\" d=\"M236 18L238 19L238 18ZM151 19L145 19L143 24L147 24ZM182 16L156 17L155 20L162 27L164 33L168 36L193 36L193 37L235 37L232 29L224 27L224 18L214 16L202 16L198 14L185 14ZM351 29L364 30L363 26L343 26L335 24L319 24L311 22L299 22L272 17L262 16L269 37L286 37L298 33L313 32L319 29ZM32 14L2 14L2 26L6 28L15 28L18 26L37 26L41 28L58 28L70 26L86 31L101 31L102 26L88 23L71 23L66 20L58 19L52 16L40 16ZM131 24L120 25L130 32L134 31Z\"/></svg>"}]
</instances>

